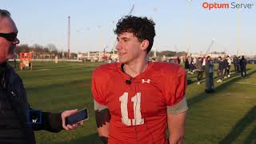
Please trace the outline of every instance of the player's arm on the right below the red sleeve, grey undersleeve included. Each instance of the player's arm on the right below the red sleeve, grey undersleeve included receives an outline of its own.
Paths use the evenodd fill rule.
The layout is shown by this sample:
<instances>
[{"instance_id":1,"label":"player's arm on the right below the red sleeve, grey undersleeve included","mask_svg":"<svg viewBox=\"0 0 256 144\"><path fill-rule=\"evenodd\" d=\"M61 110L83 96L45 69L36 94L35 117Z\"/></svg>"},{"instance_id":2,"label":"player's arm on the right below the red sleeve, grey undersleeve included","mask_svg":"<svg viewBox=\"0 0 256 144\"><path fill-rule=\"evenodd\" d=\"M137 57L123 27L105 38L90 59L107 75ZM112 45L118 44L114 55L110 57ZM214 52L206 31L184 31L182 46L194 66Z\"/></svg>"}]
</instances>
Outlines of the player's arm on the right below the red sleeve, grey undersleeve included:
<instances>
[{"instance_id":1,"label":"player's arm on the right below the red sleeve, grey undersleeve included","mask_svg":"<svg viewBox=\"0 0 256 144\"><path fill-rule=\"evenodd\" d=\"M167 122L170 144L181 144L185 136L186 111L188 110L186 98L175 106L167 106Z\"/></svg>"}]
</instances>

